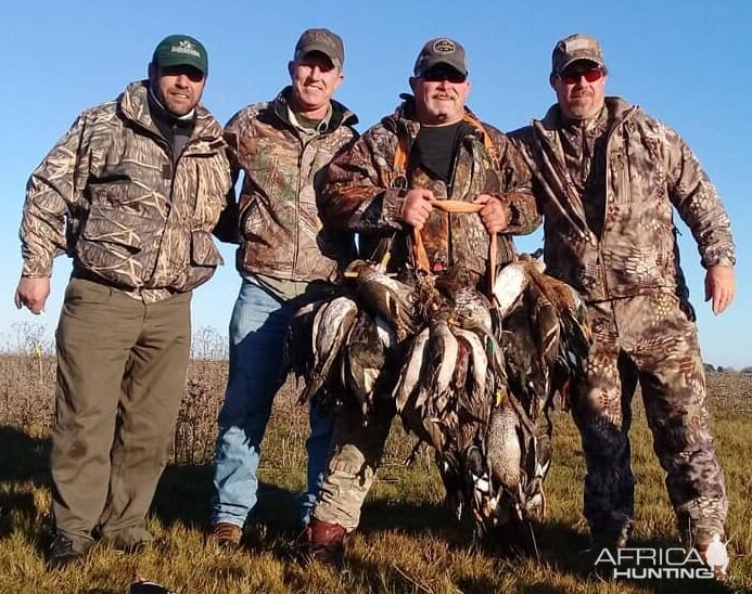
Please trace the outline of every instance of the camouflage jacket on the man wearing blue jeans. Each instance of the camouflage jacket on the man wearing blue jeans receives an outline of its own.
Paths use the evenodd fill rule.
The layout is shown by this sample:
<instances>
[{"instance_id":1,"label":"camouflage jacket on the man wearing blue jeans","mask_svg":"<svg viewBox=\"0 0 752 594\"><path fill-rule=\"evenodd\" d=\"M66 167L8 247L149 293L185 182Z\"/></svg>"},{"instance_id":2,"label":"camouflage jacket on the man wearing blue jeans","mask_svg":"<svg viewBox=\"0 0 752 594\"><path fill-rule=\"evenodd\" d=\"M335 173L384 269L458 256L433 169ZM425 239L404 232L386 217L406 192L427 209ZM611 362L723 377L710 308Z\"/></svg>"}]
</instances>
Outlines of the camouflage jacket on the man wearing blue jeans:
<instances>
[{"instance_id":1,"label":"camouflage jacket on the man wearing blue jeans","mask_svg":"<svg viewBox=\"0 0 752 594\"><path fill-rule=\"evenodd\" d=\"M304 138L288 117L284 89L271 103L250 105L225 129L239 199L241 272L290 281L332 279L353 254L353 235L324 230L316 207L320 172L356 137L358 121L332 101L329 124Z\"/></svg>"}]
</instances>

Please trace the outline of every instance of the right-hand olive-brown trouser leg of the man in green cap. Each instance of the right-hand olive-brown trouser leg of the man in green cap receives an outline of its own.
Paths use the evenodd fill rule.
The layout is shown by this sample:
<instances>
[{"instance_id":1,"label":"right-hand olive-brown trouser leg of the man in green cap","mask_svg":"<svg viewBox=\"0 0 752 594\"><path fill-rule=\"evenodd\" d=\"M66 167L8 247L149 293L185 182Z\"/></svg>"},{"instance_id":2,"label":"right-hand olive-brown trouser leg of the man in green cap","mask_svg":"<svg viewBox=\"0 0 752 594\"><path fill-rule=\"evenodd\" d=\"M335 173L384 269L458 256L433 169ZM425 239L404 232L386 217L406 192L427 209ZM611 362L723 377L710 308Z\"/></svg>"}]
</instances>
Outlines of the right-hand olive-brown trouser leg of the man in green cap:
<instances>
[{"instance_id":1,"label":"right-hand olive-brown trouser leg of the man in green cap","mask_svg":"<svg viewBox=\"0 0 752 594\"><path fill-rule=\"evenodd\" d=\"M145 305L143 330L123 377L102 534L128 546L150 539L144 524L169 457L186 389L191 294Z\"/></svg>"}]
</instances>

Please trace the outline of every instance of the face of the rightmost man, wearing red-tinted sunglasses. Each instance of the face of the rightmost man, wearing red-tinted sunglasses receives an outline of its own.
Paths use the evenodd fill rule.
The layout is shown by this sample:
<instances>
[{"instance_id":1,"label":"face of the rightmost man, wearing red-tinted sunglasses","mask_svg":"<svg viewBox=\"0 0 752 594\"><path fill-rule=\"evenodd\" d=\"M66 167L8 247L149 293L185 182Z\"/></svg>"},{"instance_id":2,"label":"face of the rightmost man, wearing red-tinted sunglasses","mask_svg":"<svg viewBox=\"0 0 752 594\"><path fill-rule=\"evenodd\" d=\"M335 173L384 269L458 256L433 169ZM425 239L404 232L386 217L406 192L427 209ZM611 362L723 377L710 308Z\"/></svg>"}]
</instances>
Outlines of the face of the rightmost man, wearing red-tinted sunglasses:
<instances>
[{"instance_id":1,"label":"face of the rightmost man, wearing red-tinted sunglasses","mask_svg":"<svg viewBox=\"0 0 752 594\"><path fill-rule=\"evenodd\" d=\"M560 75L551 75L551 87L562 113L571 119L590 119L603 107L606 70L594 62L575 62Z\"/></svg>"}]
</instances>

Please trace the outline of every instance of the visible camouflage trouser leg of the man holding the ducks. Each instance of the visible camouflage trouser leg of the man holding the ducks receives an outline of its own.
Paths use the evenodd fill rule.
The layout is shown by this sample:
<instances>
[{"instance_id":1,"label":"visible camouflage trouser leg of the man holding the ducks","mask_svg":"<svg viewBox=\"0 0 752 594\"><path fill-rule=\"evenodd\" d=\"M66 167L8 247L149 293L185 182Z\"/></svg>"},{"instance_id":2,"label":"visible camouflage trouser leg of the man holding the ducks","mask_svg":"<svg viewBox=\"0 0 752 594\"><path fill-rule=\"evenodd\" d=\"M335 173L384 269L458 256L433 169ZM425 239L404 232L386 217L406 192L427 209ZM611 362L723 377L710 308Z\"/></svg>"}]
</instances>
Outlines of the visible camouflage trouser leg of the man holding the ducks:
<instances>
[{"instance_id":1,"label":"visible camouflage trouser leg of the man holding the ducks","mask_svg":"<svg viewBox=\"0 0 752 594\"><path fill-rule=\"evenodd\" d=\"M358 527L395 412L393 401L377 400L364 424L355 399L345 398L334 422L333 453L314 506L314 518L342 526L348 532Z\"/></svg>"}]
</instances>

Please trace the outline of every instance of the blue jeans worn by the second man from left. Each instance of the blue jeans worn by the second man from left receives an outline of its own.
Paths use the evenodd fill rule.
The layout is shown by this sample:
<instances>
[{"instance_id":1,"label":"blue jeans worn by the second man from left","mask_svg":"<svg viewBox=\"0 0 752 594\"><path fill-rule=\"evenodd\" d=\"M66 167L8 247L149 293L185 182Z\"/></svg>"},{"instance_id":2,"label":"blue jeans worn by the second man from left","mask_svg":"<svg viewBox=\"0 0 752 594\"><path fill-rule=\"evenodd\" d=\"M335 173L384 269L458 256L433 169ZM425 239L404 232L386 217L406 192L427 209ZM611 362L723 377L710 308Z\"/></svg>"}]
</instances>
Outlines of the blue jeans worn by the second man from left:
<instances>
[{"instance_id":1,"label":"blue jeans worn by the second man from left","mask_svg":"<svg viewBox=\"0 0 752 594\"><path fill-rule=\"evenodd\" d=\"M214 454L213 524L243 526L256 505L260 443L284 382L284 338L297 307L243 279L230 319L230 372ZM323 479L334 418L310 406L309 422L307 489L297 498L304 525Z\"/></svg>"}]
</instances>

